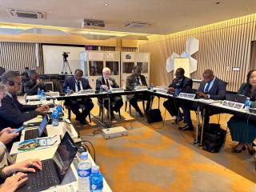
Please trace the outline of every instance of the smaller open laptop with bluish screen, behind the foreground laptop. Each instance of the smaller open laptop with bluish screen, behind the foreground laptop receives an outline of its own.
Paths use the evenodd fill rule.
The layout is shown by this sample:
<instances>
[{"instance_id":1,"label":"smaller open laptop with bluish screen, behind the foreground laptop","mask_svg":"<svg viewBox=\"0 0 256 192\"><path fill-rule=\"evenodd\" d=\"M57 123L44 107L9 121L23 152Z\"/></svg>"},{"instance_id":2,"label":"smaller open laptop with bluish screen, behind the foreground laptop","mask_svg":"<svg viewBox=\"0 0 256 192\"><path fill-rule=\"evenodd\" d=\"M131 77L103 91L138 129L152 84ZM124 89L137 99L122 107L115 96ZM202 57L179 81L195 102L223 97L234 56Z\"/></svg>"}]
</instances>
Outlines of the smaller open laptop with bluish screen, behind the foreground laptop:
<instances>
[{"instance_id":1,"label":"smaller open laptop with bluish screen, behind the foreground laptop","mask_svg":"<svg viewBox=\"0 0 256 192\"><path fill-rule=\"evenodd\" d=\"M33 130L25 130L24 132L24 140L28 140L31 138L42 138L42 137L47 137L47 131L46 131L46 126L49 122L49 116L46 115L44 118L42 118L42 122L38 126L38 129L33 129Z\"/></svg>"}]
</instances>

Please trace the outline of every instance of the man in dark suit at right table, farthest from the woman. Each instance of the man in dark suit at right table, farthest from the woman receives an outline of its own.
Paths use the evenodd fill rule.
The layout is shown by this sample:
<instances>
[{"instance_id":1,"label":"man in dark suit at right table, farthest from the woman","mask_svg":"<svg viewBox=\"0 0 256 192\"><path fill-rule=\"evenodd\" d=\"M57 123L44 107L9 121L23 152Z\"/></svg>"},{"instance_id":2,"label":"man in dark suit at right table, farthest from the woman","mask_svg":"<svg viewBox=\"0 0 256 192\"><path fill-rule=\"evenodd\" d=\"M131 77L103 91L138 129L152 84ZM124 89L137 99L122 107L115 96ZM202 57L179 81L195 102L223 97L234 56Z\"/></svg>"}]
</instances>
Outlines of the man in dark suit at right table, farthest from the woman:
<instances>
[{"instance_id":1,"label":"man in dark suit at right table, farthest from the woman","mask_svg":"<svg viewBox=\"0 0 256 192\"><path fill-rule=\"evenodd\" d=\"M182 93L190 93L192 91L193 81L191 78L186 78L184 74L185 70L183 68L178 68L175 71L176 78L170 83L168 92L174 92L175 89L179 89ZM163 102L163 106L168 110L171 116L175 117L176 123L182 121L181 112L178 109L180 104L175 101L174 98L169 98L167 101Z\"/></svg>"}]
</instances>

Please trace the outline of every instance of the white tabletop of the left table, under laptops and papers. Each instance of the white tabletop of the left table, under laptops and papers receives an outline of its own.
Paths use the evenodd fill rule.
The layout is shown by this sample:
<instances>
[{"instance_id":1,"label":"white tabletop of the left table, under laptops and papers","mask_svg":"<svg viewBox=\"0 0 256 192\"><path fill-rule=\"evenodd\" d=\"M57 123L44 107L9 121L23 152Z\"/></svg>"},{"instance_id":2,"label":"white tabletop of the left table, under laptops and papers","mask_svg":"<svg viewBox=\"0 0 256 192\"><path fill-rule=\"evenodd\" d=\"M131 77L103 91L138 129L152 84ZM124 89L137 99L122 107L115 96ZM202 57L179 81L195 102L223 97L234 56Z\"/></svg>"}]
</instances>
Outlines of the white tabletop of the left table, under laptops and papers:
<instances>
[{"instance_id":1,"label":"white tabletop of the left table, under laptops and papers","mask_svg":"<svg viewBox=\"0 0 256 192\"><path fill-rule=\"evenodd\" d=\"M44 104L49 103L50 101L44 101ZM28 104L34 105L34 104L39 104L41 102L28 102ZM74 129L74 126L70 124L69 119L65 118L66 114L64 114L63 120L59 122L58 126L52 126L52 125L47 125L46 130L49 138L53 138L54 136L63 136L66 131L70 134L71 138L74 140L74 142L81 142L81 139L78 137L77 131ZM25 122L24 125L30 124L33 122L39 122L41 121L42 118L33 118L28 122ZM37 128L38 127L34 127ZM25 128L22 130L21 134L21 140L20 142L24 141L24 132L25 130L28 129L34 129L33 127ZM46 148L42 148L40 150L31 150L31 151L26 151L23 153L17 154L16 157L16 162L22 162L28 158L39 158L40 160L45 160L48 158L52 158L54 156L55 151L57 150L58 145L54 146L49 146ZM92 166L95 166L95 162L93 158L91 158L89 154L89 159L90 162L92 162ZM48 190L44 191L49 191L49 192L54 192L54 191L70 191L70 192L75 192L78 190L78 174L77 174L77 167L78 167L78 158L74 158L74 161L72 162L70 169L68 170L64 180L62 181L62 185L59 186L54 186L51 187ZM103 175L104 177L104 175ZM105 178L103 178L103 192L111 192L112 190L110 189L110 186L107 184Z\"/></svg>"}]
</instances>

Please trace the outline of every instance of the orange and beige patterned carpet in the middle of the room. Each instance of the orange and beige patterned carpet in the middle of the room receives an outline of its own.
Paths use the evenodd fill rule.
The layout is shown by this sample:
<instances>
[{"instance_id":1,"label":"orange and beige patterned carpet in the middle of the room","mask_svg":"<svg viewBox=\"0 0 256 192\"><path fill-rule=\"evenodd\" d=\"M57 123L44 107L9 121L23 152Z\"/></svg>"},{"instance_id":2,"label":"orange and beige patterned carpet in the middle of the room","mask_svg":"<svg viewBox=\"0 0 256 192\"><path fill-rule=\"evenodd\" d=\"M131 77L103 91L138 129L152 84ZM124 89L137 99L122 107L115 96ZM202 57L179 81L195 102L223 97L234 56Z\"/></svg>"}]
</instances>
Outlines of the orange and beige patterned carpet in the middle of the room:
<instances>
[{"instance_id":1,"label":"orange and beige patterned carpet in the middle of the room","mask_svg":"<svg viewBox=\"0 0 256 192\"><path fill-rule=\"evenodd\" d=\"M180 132L169 114L164 125L150 125L146 118L130 117L123 110L126 121L118 119L114 126L124 126L128 136L108 140L101 134L86 136L94 130L96 118L90 126L77 127L82 138L93 142L96 163L113 191L256 191L254 158L247 151L233 154L230 136L221 152L211 154L191 145L194 133ZM98 115L98 107L92 114ZM217 122L216 117L211 122ZM220 116L222 127L229 118Z\"/></svg>"}]
</instances>

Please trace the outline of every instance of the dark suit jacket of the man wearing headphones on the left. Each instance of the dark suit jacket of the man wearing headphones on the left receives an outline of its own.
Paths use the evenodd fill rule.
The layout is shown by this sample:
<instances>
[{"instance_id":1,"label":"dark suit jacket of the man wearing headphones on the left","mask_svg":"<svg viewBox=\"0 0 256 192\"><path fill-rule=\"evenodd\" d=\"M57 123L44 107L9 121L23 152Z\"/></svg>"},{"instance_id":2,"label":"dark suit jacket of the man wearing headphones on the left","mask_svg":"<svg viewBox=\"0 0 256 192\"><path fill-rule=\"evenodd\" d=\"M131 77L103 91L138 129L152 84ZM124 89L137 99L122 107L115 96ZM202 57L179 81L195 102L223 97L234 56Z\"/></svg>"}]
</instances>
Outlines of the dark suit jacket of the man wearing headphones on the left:
<instances>
[{"instance_id":1,"label":"dark suit jacket of the man wearing headphones on the left","mask_svg":"<svg viewBox=\"0 0 256 192\"><path fill-rule=\"evenodd\" d=\"M18 128L32 118L35 118L39 112L35 109L38 106L22 105L18 102L17 96L11 98L8 94L2 99L0 107L0 130L6 127Z\"/></svg>"}]
</instances>

